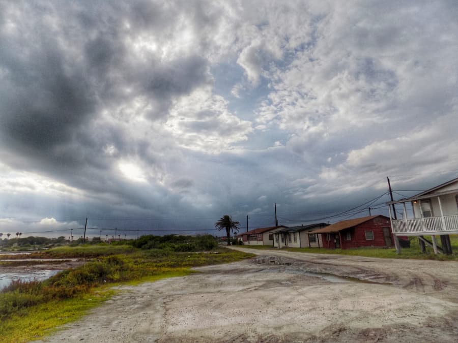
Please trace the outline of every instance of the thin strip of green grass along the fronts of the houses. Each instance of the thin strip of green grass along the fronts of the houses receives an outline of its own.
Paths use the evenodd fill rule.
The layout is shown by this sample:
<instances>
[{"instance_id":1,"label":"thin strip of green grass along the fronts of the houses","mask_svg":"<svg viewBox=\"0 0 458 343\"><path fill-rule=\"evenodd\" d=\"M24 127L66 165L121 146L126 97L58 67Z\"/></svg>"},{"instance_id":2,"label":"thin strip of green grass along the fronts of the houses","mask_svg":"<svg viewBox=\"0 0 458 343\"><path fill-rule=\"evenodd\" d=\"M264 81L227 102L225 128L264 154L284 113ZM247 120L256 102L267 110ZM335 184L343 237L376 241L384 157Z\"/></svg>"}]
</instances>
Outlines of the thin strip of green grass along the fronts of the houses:
<instances>
[{"instance_id":1,"label":"thin strip of green grass along the fronts of the houses","mask_svg":"<svg viewBox=\"0 0 458 343\"><path fill-rule=\"evenodd\" d=\"M426 239L431 241L431 236L425 236ZM439 240L440 241L440 240ZM325 249L325 248L281 248L281 250L299 252L299 253L313 253L313 254L338 254L350 256L364 256L364 257L378 257L385 259L418 259L418 260L458 260L458 236L450 235L450 243L452 246L452 255L438 254L434 255L432 247L426 247L426 254L420 252L417 237L410 237L410 247L402 248L400 255L396 254L394 247L392 248L379 248L379 247L360 247L355 249ZM243 247L258 249L258 250L278 250L271 245L244 245Z\"/></svg>"}]
</instances>

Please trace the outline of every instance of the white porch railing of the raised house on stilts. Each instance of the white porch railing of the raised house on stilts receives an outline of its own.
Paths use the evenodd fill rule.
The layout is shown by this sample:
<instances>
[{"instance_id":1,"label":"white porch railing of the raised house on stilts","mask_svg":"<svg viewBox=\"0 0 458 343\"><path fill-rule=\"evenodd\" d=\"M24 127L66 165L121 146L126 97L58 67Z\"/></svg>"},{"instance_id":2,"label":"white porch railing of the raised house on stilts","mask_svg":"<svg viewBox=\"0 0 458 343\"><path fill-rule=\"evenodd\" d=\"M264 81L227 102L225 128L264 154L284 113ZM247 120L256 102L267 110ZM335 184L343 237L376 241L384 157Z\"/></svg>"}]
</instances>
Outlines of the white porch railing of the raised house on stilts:
<instances>
[{"instance_id":1,"label":"white porch railing of the raised house on stilts","mask_svg":"<svg viewBox=\"0 0 458 343\"><path fill-rule=\"evenodd\" d=\"M447 234L458 232L458 215L393 220L395 234Z\"/></svg>"}]
</instances>

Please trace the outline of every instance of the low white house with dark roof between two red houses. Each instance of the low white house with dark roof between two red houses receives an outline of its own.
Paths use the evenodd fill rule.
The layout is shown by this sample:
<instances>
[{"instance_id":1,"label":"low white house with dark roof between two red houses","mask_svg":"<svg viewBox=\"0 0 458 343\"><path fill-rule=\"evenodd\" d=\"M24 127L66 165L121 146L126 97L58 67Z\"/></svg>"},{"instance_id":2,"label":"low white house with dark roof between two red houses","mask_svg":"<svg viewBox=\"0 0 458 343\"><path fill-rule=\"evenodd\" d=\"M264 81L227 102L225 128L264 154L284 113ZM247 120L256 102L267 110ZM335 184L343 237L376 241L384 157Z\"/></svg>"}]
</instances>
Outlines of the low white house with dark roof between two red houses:
<instances>
[{"instance_id":1,"label":"low white house with dark roof between two red houses","mask_svg":"<svg viewBox=\"0 0 458 343\"><path fill-rule=\"evenodd\" d=\"M295 226L292 228L280 228L272 231L274 235L274 247L321 247L323 240L321 234L310 233L329 226L326 223Z\"/></svg>"}]
</instances>

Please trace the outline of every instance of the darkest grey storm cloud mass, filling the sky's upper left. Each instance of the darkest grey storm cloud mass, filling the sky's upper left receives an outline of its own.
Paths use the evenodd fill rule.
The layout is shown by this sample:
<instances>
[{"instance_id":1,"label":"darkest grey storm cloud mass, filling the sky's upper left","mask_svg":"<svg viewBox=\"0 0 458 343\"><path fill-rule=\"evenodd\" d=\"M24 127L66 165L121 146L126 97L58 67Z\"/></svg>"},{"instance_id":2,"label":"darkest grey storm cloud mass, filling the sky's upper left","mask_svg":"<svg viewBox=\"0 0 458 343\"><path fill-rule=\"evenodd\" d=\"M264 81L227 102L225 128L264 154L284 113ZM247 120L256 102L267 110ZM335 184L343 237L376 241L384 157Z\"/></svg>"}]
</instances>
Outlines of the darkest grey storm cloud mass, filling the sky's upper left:
<instances>
[{"instance_id":1,"label":"darkest grey storm cloud mass, filling the sky's upper left","mask_svg":"<svg viewBox=\"0 0 458 343\"><path fill-rule=\"evenodd\" d=\"M118 153L129 149L120 128L97 125L101 110L117 112L133 93L151 100L147 114L154 120L166 115L171 99L210 81L202 57L139 58L126 46L146 29L172 27L166 20L174 11L163 18L163 9L149 2L34 4L2 4L0 139L10 155L56 164L60 175L88 157L100 164L107 143Z\"/></svg>"}]
</instances>

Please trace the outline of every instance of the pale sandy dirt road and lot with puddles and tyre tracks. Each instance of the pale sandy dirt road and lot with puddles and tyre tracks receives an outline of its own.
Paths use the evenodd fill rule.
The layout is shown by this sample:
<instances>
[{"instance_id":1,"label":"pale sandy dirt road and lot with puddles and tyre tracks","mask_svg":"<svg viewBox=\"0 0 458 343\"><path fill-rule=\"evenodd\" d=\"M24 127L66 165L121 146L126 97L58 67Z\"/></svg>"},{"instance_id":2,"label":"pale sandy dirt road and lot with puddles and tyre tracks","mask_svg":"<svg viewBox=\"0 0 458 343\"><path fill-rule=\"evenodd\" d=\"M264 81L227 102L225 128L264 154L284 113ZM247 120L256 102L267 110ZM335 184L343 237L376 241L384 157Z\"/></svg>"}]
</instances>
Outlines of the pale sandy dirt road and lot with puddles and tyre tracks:
<instances>
[{"instance_id":1,"label":"pale sandy dirt road and lot with puddles and tyre tracks","mask_svg":"<svg viewBox=\"0 0 458 343\"><path fill-rule=\"evenodd\" d=\"M43 341L458 340L457 262L249 252L259 256L122 287Z\"/></svg>"}]
</instances>

